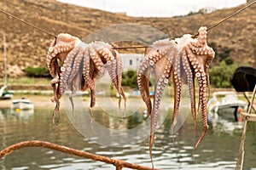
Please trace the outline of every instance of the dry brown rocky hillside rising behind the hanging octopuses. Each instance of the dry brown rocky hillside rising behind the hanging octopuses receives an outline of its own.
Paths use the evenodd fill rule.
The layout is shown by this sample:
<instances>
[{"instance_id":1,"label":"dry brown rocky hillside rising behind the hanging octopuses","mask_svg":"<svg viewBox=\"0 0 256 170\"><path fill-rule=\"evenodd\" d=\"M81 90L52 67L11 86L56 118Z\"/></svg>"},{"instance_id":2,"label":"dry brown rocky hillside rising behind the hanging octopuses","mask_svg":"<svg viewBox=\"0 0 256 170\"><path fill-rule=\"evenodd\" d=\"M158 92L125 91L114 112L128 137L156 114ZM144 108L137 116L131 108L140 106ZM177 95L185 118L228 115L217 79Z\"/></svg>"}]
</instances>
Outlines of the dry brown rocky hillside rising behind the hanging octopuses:
<instances>
[{"instance_id":1,"label":"dry brown rocky hillside rising behind the hanging octopuses","mask_svg":"<svg viewBox=\"0 0 256 170\"><path fill-rule=\"evenodd\" d=\"M92 8L59 3L55 0L2 0L0 2L1 9L55 35L67 32L84 39L85 42L101 40L102 37L112 35L110 39L103 38L102 40L114 42L113 40L118 41L122 38L128 40L135 38L146 44L159 38L168 37L168 35L172 37L181 37L185 33L194 35L200 26L212 26L242 7L243 5L237 8L217 10L211 14L194 14L172 18L135 18L125 16L125 14L113 14ZM127 23L144 26L143 29L133 30L134 26L126 25ZM120 24L124 25L120 26ZM106 26L110 29L107 31L103 29L100 36L99 34L91 34L106 28ZM111 26L114 26L114 29L111 29ZM128 26L127 29L131 29L129 34L125 30L125 26ZM22 74L22 70L27 66L45 66L45 54L53 37L0 13L1 35L3 31L7 36L9 75L11 77ZM138 33L141 36L138 36ZM3 38L1 37L0 44L3 47ZM208 33L208 43L214 42L218 53L227 48L233 49L230 57L240 65L253 65L253 41L256 41L256 5L247 8ZM132 45L136 42L115 42L114 44ZM0 56L1 77L3 76L3 50L1 50Z\"/></svg>"}]
</instances>

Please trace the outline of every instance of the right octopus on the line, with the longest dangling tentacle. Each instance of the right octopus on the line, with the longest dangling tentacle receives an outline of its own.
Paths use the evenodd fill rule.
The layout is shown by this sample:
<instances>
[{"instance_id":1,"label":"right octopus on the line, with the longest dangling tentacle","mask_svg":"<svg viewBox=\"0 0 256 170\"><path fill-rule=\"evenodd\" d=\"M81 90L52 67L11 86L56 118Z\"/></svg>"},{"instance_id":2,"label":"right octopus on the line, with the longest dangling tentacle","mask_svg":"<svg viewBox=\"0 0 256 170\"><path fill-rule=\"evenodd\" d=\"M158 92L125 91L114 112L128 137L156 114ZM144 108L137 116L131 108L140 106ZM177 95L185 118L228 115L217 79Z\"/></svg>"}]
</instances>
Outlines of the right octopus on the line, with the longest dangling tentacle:
<instances>
[{"instance_id":1,"label":"right octopus on the line, with the longest dangling tentacle","mask_svg":"<svg viewBox=\"0 0 256 170\"><path fill-rule=\"evenodd\" d=\"M196 127L195 79L199 86L199 105L203 122L201 136L195 143L194 151L204 138L208 129L207 124L207 92L209 86L209 66L214 58L214 51L207 45L207 27L200 27L198 37L189 34L175 40L159 40L146 48L143 61L137 70L137 84L143 102L150 116L149 154L152 161L154 133L157 126L161 95L165 86L172 80L174 86L174 110L171 132L177 124L177 113L180 104L182 85L189 87L191 113ZM151 73L155 76L154 103L152 106L148 82ZM154 165L153 165L154 166Z\"/></svg>"}]
</instances>

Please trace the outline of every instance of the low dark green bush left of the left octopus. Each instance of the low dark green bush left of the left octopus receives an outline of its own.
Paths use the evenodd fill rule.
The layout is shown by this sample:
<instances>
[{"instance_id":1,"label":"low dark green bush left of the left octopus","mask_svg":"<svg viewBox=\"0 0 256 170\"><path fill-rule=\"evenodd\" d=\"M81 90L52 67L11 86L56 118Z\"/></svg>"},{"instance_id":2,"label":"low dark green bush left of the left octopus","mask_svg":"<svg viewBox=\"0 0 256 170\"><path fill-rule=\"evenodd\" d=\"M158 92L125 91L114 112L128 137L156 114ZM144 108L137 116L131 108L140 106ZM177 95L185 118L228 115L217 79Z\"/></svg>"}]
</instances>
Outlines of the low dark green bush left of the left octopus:
<instances>
[{"instance_id":1,"label":"low dark green bush left of the left octopus","mask_svg":"<svg viewBox=\"0 0 256 170\"><path fill-rule=\"evenodd\" d=\"M43 66L28 66L24 71L29 77L49 77L49 71Z\"/></svg>"}]
</instances>

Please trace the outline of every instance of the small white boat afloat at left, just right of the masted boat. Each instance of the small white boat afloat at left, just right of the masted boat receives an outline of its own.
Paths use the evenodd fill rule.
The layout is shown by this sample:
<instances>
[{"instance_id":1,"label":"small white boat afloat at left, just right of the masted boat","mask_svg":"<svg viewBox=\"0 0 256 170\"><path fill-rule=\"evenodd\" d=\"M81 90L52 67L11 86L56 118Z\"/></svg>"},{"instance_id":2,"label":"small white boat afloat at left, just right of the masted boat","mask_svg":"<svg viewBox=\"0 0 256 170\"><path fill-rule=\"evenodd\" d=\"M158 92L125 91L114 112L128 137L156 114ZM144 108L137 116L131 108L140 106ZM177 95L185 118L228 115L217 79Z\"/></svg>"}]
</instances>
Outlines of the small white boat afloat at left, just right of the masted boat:
<instances>
[{"instance_id":1,"label":"small white boat afloat at left, just right of the masted boat","mask_svg":"<svg viewBox=\"0 0 256 170\"><path fill-rule=\"evenodd\" d=\"M14 99L11 104L12 110L33 110L34 105L29 99Z\"/></svg>"}]
</instances>

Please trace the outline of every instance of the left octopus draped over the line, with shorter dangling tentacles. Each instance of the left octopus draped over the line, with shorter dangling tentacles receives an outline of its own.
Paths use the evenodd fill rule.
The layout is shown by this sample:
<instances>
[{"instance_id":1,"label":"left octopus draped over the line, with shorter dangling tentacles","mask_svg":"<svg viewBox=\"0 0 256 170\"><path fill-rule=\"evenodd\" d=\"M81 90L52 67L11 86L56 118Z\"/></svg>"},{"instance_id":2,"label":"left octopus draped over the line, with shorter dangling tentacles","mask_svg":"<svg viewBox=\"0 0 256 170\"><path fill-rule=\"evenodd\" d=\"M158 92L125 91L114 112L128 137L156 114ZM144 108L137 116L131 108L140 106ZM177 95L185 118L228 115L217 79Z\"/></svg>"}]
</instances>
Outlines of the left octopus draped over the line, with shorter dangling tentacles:
<instances>
[{"instance_id":1,"label":"left octopus draped over the line, with shorter dangling tentacles","mask_svg":"<svg viewBox=\"0 0 256 170\"><path fill-rule=\"evenodd\" d=\"M67 33L59 34L50 42L47 53L47 67L53 79L50 85L53 88L52 102L55 102L53 123L55 115L60 108L60 99L67 89L72 94L69 99L73 106L73 96L78 90L84 91L90 88L90 114L96 104L96 78L101 77L105 70L114 87L119 93L119 107L121 99L125 99L125 93L121 87L122 63L119 53L107 42L82 42L78 37Z\"/></svg>"}]
</instances>

